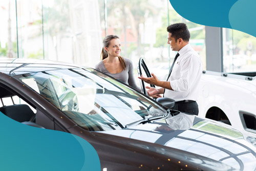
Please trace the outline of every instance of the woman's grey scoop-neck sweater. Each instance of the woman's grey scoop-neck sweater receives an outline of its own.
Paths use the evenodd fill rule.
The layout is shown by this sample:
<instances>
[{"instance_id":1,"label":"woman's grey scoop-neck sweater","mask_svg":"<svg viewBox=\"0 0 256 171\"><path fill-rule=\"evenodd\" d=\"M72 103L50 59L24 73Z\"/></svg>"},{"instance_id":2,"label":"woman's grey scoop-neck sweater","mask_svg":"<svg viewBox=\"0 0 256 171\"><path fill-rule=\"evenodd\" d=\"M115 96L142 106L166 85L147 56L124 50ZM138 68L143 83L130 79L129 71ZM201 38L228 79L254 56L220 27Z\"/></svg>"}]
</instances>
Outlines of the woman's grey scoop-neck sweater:
<instances>
[{"instance_id":1,"label":"woman's grey scoop-neck sweater","mask_svg":"<svg viewBox=\"0 0 256 171\"><path fill-rule=\"evenodd\" d=\"M97 65L95 66L95 69L110 75L126 84L129 84L129 86L132 86L133 88L137 89L138 91L141 91L141 89L137 86L135 79L134 79L134 72L133 72L133 63L130 59L123 58L125 62L125 70L122 70L120 73L117 74L111 74L108 70L106 70L103 61L101 60Z\"/></svg>"}]
</instances>

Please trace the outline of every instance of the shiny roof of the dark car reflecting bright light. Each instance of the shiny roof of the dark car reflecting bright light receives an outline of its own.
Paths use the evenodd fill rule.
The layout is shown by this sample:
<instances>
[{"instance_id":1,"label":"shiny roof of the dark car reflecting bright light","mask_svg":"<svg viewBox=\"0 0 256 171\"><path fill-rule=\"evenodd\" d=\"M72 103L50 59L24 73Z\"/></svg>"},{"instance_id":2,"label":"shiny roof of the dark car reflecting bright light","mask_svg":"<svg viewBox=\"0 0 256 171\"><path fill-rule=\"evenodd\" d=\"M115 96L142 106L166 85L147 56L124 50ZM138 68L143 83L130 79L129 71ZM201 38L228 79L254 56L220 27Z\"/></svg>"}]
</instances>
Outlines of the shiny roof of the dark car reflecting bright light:
<instances>
[{"instance_id":1,"label":"shiny roof of the dark car reflecting bright light","mask_svg":"<svg viewBox=\"0 0 256 171\"><path fill-rule=\"evenodd\" d=\"M81 68L81 66L66 62L43 59L0 58L0 72L8 75L19 75L71 68Z\"/></svg>"}]
</instances>

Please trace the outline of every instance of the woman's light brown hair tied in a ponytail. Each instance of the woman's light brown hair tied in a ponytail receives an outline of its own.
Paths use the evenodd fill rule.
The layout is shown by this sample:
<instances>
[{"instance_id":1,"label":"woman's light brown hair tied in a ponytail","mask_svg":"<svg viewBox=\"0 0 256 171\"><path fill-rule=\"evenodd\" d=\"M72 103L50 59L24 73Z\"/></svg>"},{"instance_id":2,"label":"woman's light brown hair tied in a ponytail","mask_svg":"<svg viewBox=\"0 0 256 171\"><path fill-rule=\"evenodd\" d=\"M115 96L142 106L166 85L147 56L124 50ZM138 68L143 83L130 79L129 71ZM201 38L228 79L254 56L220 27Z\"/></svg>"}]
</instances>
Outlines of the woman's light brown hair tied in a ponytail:
<instances>
[{"instance_id":1,"label":"woman's light brown hair tied in a ponytail","mask_svg":"<svg viewBox=\"0 0 256 171\"><path fill-rule=\"evenodd\" d=\"M114 38L119 38L117 35L107 35L104 39L103 39L103 48L101 50L101 54L100 54L100 59L103 60L105 58L108 57L108 52L106 52L106 50L104 49L104 47L109 47L110 46L110 41ZM118 59L123 67L123 69L125 70L125 62L124 59L121 56L118 56Z\"/></svg>"}]
</instances>

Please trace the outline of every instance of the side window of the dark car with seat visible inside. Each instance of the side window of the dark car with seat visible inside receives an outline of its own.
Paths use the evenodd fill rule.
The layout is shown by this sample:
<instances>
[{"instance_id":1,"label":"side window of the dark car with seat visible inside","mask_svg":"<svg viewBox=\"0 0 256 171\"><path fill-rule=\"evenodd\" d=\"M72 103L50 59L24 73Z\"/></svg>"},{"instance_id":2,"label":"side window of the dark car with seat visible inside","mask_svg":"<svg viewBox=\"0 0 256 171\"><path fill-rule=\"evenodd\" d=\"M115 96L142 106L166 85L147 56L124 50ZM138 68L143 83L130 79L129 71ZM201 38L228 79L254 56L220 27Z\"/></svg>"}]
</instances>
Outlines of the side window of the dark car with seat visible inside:
<instances>
[{"instance_id":1,"label":"side window of the dark car with seat visible inside","mask_svg":"<svg viewBox=\"0 0 256 171\"><path fill-rule=\"evenodd\" d=\"M32 87L35 83L33 79L26 82L31 83ZM44 111L37 108L38 104L30 103L26 97L18 94L10 87L6 88L4 84L1 84L0 88L0 99L2 104L0 105L0 112L2 112L4 115L26 125L40 127L43 129L63 131L62 127L59 126L58 123L55 123L49 117L49 115L46 115Z\"/></svg>"}]
</instances>

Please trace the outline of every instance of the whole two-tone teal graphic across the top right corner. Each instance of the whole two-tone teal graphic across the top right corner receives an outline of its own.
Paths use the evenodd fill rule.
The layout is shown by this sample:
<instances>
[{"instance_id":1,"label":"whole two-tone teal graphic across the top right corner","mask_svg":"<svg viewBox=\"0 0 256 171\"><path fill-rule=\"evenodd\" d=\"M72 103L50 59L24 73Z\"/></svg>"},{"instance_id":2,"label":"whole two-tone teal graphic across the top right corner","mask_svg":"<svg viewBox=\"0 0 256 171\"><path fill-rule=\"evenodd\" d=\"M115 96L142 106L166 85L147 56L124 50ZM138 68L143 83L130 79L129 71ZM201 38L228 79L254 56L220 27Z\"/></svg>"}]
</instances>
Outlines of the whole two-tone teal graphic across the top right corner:
<instances>
[{"instance_id":1,"label":"whole two-tone teal graphic across the top right corner","mask_svg":"<svg viewBox=\"0 0 256 171\"><path fill-rule=\"evenodd\" d=\"M255 0L169 0L191 22L239 30L256 36Z\"/></svg>"}]
</instances>

